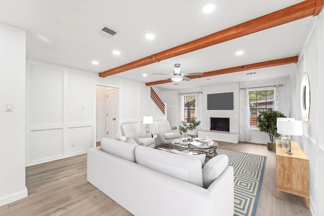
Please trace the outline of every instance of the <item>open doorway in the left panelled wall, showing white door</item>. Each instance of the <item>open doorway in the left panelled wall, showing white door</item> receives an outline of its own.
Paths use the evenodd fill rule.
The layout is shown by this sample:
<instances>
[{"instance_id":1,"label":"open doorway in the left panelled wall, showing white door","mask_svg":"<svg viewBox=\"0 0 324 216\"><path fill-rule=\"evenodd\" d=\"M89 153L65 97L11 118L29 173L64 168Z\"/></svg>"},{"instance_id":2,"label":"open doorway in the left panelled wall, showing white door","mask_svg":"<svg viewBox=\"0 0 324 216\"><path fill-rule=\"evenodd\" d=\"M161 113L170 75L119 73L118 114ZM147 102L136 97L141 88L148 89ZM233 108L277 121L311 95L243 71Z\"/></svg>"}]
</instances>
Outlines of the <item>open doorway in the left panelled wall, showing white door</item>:
<instances>
[{"instance_id":1,"label":"open doorway in the left panelled wall, showing white door","mask_svg":"<svg viewBox=\"0 0 324 216\"><path fill-rule=\"evenodd\" d=\"M118 88L96 87L96 141L118 133Z\"/></svg>"}]
</instances>

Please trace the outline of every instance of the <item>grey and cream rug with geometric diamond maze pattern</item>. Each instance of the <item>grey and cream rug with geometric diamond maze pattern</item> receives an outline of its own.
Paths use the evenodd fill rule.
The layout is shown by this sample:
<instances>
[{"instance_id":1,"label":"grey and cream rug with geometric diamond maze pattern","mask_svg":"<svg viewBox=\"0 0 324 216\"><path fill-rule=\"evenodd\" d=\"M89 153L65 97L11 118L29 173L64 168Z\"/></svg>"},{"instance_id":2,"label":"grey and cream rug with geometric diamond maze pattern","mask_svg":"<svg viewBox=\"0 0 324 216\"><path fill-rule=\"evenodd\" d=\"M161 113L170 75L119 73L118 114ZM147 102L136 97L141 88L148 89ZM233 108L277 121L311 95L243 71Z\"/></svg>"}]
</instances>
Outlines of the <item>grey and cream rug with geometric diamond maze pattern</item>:
<instances>
[{"instance_id":1,"label":"grey and cream rug with geometric diamond maze pattern","mask_svg":"<svg viewBox=\"0 0 324 216\"><path fill-rule=\"evenodd\" d=\"M266 156L217 149L234 168L234 216L255 216Z\"/></svg>"}]
</instances>

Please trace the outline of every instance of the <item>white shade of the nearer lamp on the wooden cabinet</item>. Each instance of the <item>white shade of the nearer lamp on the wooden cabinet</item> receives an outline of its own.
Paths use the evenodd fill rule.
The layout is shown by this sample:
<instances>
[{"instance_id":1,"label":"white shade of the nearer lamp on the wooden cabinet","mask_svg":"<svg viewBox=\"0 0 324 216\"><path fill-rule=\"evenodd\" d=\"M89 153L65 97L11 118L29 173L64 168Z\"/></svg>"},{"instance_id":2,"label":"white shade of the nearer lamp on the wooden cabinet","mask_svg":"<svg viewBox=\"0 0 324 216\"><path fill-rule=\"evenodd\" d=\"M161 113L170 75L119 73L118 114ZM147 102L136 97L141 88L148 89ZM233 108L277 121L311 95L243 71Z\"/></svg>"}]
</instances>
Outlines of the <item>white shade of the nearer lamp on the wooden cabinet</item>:
<instances>
[{"instance_id":1,"label":"white shade of the nearer lamp on the wooden cabinet","mask_svg":"<svg viewBox=\"0 0 324 216\"><path fill-rule=\"evenodd\" d=\"M301 136L303 135L302 121L278 120L277 132L278 134Z\"/></svg>"}]
</instances>

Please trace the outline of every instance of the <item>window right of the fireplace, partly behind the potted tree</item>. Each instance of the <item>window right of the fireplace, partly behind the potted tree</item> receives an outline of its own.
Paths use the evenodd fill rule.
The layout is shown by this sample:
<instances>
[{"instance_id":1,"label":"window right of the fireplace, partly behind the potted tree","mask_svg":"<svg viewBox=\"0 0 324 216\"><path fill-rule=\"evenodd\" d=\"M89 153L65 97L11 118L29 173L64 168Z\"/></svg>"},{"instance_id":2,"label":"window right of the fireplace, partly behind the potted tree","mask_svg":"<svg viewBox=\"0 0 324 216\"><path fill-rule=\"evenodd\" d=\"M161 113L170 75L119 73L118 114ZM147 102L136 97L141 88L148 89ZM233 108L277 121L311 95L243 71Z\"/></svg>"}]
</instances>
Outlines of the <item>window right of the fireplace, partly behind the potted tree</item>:
<instances>
[{"instance_id":1,"label":"window right of the fireplace, partly behind the potted tree","mask_svg":"<svg viewBox=\"0 0 324 216\"><path fill-rule=\"evenodd\" d=\"M262 110L267 110L273 107L274 90L263 90L249 92L250 112L251 112L251 127L257 127L257 116Z\"/></svg>"}]
</instances>

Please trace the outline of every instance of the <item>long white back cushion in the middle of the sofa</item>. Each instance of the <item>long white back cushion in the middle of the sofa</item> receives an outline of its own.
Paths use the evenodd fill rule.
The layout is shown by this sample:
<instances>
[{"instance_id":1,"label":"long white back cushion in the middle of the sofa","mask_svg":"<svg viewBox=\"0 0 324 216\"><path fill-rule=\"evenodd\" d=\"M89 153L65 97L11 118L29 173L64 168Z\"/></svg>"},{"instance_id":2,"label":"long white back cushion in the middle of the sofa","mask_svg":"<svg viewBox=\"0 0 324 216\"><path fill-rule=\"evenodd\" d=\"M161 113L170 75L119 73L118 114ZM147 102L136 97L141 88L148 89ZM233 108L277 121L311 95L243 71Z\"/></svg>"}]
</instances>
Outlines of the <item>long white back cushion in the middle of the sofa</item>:
<instances>
[{"instance_id":1,"label":"long white back cushion in the middle of the sofa","mask_svg":"<svg viewBox=\"0 0 324 216\"><path fill-rule=\"evenodd\" d=\"M145 146L136 147L135 158L138 164L203 187L201 162L196 158L170 154Z\"/></svg>"}]
</instances>

